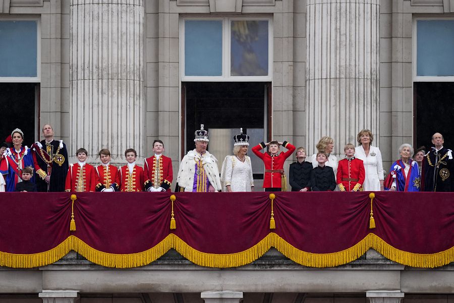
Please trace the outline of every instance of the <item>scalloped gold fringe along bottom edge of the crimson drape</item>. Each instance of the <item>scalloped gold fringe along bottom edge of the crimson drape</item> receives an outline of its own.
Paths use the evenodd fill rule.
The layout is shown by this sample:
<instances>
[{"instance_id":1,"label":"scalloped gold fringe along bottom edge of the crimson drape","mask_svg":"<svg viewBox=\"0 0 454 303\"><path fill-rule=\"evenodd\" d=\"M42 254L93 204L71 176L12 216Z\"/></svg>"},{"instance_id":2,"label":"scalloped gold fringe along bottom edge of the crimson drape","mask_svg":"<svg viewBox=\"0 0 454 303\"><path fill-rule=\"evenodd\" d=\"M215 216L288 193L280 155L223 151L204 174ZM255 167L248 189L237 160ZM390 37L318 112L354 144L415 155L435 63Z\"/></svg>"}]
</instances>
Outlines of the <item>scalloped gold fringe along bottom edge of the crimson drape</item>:
<instances>
[{"instance_id":1,"label":"scalloped gold fringe along bottom edge of the crimson drape","mask_svg":"<svg viewBox=\"0 0 454 303\"><path fill-rule=\"evenodd\" d=\"M369 233L353 247L335 253L314 254L301 251L286 240L271 232L256 245L233 254L209 254L190 247L177 235L171 233L156 246L135 254L110 254L98 251L76 236L69 236L57 247L37 254L9 254L0 252L0 266L13 268L33 268L54 263L71 250L78 252L87 260L105 267L131 268L150 264L174 248L189 261L205 267L228 268L250 264L263 256L271 247L292 261L308 267L334 267L357 260L370 248L387 259L411 267L434 268L454 262L454 247L435 254L414 254L388 245L379 236Z\"/></svg>"}]
</instances>

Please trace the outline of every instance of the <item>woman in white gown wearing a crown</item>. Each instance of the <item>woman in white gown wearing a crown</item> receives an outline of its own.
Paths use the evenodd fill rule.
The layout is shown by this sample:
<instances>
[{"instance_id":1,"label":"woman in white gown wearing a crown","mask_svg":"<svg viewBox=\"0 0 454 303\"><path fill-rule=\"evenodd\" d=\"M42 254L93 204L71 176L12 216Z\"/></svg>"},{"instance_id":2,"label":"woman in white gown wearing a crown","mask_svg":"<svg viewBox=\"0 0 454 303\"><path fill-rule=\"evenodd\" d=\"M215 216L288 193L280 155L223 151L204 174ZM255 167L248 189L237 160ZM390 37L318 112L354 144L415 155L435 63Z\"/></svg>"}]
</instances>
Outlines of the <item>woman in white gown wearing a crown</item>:
<instances>
[{"instance_id":1,"label":"woman in white gown wearing a crown","mask_svg":"<svg viewBox=\"0 0 454 303\"><path fill-rule=\"evenodd\" d=\"M240 134L234 137L233 156L226 156L222 163L221 182L223 192L253 192L251 158L246 156L249 146L249 136Z\"/></svg>"}]
</instances>

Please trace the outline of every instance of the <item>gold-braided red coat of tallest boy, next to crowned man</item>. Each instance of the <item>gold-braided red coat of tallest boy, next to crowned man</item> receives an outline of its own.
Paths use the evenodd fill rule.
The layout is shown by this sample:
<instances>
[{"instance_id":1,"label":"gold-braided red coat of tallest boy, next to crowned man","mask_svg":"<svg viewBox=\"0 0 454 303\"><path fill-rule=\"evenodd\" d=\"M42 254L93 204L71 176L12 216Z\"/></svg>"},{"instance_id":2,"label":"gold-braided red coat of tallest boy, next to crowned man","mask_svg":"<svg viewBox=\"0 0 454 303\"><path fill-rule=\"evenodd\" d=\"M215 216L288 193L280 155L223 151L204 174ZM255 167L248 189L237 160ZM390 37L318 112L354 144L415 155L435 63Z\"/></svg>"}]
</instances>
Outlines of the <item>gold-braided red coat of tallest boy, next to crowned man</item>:
<instances>
[{"instance_id":1,"label":"gold-braided red coat of tallest boy, next to crowned man","mask_svg":"<svg viewBox=\"0 0 454 303\"><path fill-rule=\"evenodd\" d=\"M156 171L156 168L158 170ZM156 161L156 156L145 159L143 165L143 179L145 180L145 190L150 187L155 189L163 188L165 191L170 192L174 173L172 169L172 159L164 155L160 155Z\"/></svg>"}]
</instances>

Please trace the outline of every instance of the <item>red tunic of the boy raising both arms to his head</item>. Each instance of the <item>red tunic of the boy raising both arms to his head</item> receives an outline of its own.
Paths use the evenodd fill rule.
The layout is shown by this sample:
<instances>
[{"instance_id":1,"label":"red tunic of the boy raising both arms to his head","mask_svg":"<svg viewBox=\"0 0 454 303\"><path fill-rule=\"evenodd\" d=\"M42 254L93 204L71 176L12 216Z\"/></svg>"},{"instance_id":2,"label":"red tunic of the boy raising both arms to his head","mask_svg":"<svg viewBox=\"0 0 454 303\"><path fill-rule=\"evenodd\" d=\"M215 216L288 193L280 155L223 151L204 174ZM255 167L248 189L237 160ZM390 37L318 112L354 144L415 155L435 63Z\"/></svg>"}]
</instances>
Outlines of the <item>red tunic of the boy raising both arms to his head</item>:
<instances>
[{"instance_id":1,"label":"red tunic of the boy raising both arms to his head","mask_svg":"<svg viewBox=\"0 0 454 303\"><path fill-rule=\"evenodd\" d=\"M280 172L266 172L267 169L269 170L277 170L281 169L283 171L283 164L288 157L292 155L295 151L295 146L290 144L287 141L282 143L282 146L287 148L288 151L285 153L282 152L276 156L271 156L268 153L261 153L260 150L265 148L266 145L264 142L260 143L257 146L252 148L252 152L256 154L257 157L262 159L263 163L265 164L265 177L263 180L263 188L281 188L281 175Z\"/></svg>"}]
</instances>

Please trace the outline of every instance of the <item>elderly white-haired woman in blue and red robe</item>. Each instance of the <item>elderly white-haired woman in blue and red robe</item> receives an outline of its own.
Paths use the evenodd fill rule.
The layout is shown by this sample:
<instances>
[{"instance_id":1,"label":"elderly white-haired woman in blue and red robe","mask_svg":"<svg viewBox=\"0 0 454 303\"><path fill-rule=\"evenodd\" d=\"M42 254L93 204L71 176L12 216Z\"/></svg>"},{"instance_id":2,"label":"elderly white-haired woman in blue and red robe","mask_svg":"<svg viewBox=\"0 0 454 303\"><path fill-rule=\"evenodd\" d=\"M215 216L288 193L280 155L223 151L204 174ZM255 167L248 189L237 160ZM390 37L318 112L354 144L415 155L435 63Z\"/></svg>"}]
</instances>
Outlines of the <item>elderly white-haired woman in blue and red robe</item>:
<instances>
[{"instance_id":1,"label":"elderly white-haired woman in blue and red robe","mask_svg":"<svg viewBox=\"0 0 454 303\"><path fill-rule=\"evenodd\" d=\"M385 190L391 192L419 192L421 177L418 163L412 160L413 147L402 144L399 148L400 159L392 163L385 180Z\"/></svg>"}]
</instances>

